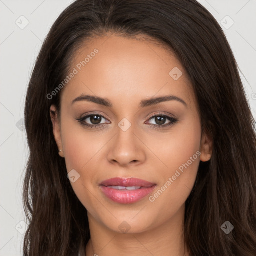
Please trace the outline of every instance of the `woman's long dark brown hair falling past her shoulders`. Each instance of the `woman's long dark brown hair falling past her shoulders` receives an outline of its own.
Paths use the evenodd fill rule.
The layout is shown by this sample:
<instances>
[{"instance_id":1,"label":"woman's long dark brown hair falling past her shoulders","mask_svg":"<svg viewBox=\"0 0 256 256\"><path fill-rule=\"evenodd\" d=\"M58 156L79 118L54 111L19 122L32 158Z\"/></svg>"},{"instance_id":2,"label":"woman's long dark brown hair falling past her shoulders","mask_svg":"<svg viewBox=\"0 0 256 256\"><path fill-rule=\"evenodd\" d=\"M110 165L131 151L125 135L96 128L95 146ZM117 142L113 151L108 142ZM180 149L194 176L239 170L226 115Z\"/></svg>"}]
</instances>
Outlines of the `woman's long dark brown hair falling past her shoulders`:
<instances>
[{"instance_id":1,"label":"woman's long dark brown hair falling past her shoulders","mask_svg":"<svg viewBox=\"0 0 256 256\"><path fill-rule=\"evenodd\" d=\"M23 253L78 255L89 238L86 208L66 177L52 132L48 99L78 48L107 32L145 35L173 50L186 70L212 157L200 162L185 202L184 238L193 256L255 256L256 134L238 65L215 18L195 0L76 0L52 25L25 102L29 159L23 184L28 229ZM221 225L234 229L225 234Z\"/></svg>"}]
</instances>

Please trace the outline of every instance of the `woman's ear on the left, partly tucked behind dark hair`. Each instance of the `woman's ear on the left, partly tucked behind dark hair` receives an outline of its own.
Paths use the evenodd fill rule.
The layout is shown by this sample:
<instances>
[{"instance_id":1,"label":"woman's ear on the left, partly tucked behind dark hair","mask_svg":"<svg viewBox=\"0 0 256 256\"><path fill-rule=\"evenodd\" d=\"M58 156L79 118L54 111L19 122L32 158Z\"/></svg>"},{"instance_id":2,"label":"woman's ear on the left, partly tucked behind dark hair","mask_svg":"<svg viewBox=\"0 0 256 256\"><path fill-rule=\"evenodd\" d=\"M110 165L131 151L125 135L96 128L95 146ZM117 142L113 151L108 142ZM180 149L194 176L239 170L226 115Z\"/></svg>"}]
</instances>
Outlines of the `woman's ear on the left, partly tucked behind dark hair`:
<instances>
[{"instance_id":1,"label":"woman's ear on the left, partly tucked behind dark hair","mask_svg":"<svg viewBox=\"0 0 256 256\"><path fill-rule=\"evenodd\" d=\"M50 106L50 119L53 127L53 135L59 150L58 154L61 157L64 157L64 150L62 146L61 133L60 133L60 121L59 121L57 108L55 105Z\"/></svg>"}]
</instances>

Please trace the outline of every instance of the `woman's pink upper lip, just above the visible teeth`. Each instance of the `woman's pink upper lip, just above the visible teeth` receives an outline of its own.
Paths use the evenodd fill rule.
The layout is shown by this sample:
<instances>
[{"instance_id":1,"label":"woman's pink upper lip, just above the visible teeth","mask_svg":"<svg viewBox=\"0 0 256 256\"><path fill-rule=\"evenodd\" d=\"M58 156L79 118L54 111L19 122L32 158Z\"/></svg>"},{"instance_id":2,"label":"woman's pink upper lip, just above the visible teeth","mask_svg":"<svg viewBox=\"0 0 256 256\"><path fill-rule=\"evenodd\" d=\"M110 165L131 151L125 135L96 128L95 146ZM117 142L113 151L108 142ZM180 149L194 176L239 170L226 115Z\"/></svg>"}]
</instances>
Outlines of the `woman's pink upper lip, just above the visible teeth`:
<instances>
[{"instance_id":1,"label":"woman's pink upper lip, just above the visible teeth","mask_svg":"<svg viewBox=\"0 0 256 256\"><path fill-rule=\"evenodd\" d=\"M142 186L142 187L150 187L156 185L155 183L139 179L139 178L121 178L115 177L102 181L100 185L104 186Z\"/></svg>"}]
</instances>

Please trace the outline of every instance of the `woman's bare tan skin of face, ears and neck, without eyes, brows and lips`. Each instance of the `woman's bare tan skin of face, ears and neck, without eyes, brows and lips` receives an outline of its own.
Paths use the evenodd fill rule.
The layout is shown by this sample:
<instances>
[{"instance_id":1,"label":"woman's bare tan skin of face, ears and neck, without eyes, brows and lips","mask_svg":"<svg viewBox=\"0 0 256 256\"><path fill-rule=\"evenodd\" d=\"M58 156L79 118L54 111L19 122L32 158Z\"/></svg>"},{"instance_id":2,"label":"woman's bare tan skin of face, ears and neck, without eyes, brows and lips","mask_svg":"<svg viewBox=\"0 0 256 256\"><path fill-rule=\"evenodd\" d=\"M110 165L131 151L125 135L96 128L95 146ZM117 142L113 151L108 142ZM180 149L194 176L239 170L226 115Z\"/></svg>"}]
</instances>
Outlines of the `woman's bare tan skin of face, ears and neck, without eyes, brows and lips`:
<instances>
[{"instance_id":1,"label":"woman's bare tan skin of face, ears and neck, without eyes, brows and lips","mask_svg":"<svg viewBox=\"0 0 256 256\"><path fill-rule=\"evenodd\" d=\"M185 201L200 160L211 157L212 141L202 133L195 95L181 63L163 45L138 38L106 34L84 43L70 70L94 48L99 52L62 89L60 115L51 113L67 172L75 169L80 175L71 185L88 213L91 239L86 255L188 255L182 234ZM174 67L183 73L178 80L169 75ZM89 101L72 104L81 94L107 98L112 107ZM139 107L141 100L170 94L187 106L171 100ZM54 105L51 110L56 111ZM76 120L95 112L104 116L100 123L105 126L90 129ZM155 127L159 125L151 118L155 114L175 117L177 122ZM125 132L118 126L123 118L131 124ZM86 121L92 124L90 118ZM166 119L162 125L169 122ZM197 151L201 155L158 198L149 201ZM101 181L113 177L137 177L157 186L136 203L119 204L99 188ZM118 228L123 221L129 225L127 233Z\"/></svg>"}]
</instances>

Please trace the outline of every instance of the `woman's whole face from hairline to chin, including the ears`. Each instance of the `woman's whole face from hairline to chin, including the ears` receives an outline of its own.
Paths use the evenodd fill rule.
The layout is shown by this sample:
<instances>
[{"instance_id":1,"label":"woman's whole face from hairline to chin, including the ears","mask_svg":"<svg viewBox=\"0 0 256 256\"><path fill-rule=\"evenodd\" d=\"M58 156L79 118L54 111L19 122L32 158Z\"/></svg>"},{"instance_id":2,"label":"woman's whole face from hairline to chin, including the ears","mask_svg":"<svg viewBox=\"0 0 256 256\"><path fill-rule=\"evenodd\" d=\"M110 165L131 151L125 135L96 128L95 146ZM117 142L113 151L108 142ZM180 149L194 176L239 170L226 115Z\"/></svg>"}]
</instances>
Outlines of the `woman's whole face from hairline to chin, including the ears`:
<instances>
[{"instance_id":1,"label":"woman's whole face from hairline to chin, including the ears","mask_svg":"<svg viewBox=\"0 0 256 256\"><path fill-rule=\"evenodd\" d=\"M138 233L183 217L211 142L181 63L159 44L105 35L80 48L70 66L60 114L51 118L89 221Z\"/></svg>"}]
</instances>

